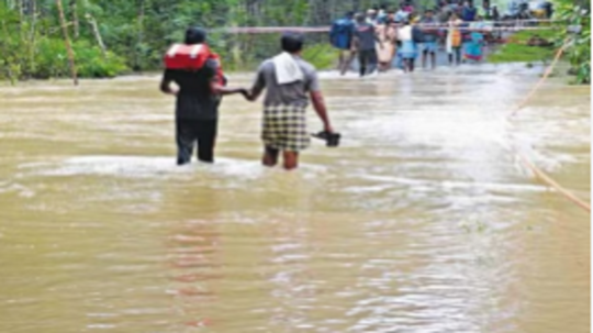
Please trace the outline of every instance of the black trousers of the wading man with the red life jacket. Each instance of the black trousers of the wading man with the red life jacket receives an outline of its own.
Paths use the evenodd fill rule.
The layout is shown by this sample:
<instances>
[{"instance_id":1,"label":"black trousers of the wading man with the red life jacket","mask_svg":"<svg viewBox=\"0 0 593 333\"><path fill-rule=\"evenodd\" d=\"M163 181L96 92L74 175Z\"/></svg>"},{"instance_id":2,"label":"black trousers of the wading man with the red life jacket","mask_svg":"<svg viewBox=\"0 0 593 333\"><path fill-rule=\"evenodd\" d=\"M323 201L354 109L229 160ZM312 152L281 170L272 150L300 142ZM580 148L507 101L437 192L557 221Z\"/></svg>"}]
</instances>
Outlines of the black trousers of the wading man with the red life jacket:
<instances>
[{"instance_id":1,"label":"black trousers of the wading man with the red life jacket","mask_svg":"<svg viewBox=\"0 0 593 333\"><path fill-rule=\"evenodd\" d=\"M198 159L214 162L217 120L177 119L176 125L178 165L191 162L195 143L198 143Z\"/></svg>"}]
</instances>

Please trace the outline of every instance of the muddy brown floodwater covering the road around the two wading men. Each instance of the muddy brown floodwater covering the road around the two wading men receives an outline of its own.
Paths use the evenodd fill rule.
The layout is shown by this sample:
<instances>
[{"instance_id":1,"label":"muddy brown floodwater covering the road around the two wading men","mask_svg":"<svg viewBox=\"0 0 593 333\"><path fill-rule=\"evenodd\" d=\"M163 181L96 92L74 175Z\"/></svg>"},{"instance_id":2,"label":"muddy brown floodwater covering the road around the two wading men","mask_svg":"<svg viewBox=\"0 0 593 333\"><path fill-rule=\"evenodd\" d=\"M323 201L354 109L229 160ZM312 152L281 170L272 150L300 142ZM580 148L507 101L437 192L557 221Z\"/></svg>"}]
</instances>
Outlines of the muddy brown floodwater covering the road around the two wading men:
<instances>
[{"instance_id":1,"label":"muddy brown floodwater covering the road around the two wading men","mask_svg":"<svg viewBox=\"0 0 593 333\"><path fill-rule=\"evenodd\" d=\"M510 146L589 200L590 90L510 125L540 73L326 74L295 173L239 97L178 168L157 77L0 88L0 332L589 332L590 215Z\"/></svg>"}]
</instances>

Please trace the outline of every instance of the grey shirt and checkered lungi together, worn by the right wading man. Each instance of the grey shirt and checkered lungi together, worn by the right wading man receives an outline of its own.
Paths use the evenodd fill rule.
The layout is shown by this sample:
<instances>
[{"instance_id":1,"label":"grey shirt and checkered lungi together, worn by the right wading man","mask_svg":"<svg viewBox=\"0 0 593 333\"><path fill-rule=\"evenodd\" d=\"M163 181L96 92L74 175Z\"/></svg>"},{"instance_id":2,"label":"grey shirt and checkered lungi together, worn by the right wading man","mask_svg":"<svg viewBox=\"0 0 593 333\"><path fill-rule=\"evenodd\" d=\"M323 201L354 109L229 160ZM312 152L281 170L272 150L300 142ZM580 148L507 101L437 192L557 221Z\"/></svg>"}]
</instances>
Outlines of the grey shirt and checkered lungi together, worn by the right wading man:
<instances>
[{"instance_id":1,"label":"grey shirt and checkered lungi together, worn by the right wading man","mask_svg":"<svg viewBox=\"0 0 593 333\"><path fill-rule=\"evenodd\" d=\"M310 144L306 130L306 107L309 92L320 91L317 73L313 65L293 55L303 79L280 85L276 76L276 65L272 59L259 66L254 92L264 89L264 120L261 140L269 149L300 152Z\"/></svg>"}]
</instances>

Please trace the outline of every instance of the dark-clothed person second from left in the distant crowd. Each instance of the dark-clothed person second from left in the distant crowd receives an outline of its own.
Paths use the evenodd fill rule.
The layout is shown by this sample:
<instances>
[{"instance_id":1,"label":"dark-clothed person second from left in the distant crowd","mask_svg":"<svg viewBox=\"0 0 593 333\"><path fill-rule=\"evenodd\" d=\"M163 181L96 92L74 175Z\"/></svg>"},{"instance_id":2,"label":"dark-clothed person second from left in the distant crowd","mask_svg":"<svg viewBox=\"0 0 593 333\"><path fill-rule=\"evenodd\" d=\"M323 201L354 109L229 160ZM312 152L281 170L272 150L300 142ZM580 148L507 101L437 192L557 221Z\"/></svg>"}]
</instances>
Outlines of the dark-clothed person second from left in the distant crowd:
<instances>
[{"instance_id":1,"label":"dark-clothed person second from left in the distant crowd","mask_svg":"<svg viewBox=\"0 0 593 333\"><path fill-rule=\"evenodd\" d=\"M380 48L383 48L383 44L377 36L374 25L365 22L363 14L356 15L356 23L354 48L358 51L360 77L363 77L377 70L379 58L374 43L379 43Z\"/></svg>"}]
</instances>

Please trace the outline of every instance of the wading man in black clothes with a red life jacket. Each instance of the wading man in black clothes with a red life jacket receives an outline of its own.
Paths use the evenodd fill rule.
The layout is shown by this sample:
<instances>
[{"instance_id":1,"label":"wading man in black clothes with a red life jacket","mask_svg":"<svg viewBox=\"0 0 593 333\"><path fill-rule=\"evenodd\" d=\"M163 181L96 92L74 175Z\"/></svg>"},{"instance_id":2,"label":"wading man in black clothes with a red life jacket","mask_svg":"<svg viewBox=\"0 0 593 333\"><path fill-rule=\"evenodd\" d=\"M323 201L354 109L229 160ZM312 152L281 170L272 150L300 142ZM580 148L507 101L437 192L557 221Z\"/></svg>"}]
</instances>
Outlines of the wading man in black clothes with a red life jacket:
<instances>
[{"instance_id":1,"label":"wading man in black clothes with a red life jacket","mask_svg":"<svg viewBox=\"0 0 593 333\"><path fill-rule=\"evenodd\" d=\"M233 93L247 96L245 89L225 87L220 58L205 42L204 30L190 27L186 32L184 45L174 45L165 56L167 68L160 90L177 97L178 165L191 162L195 143L198 159L213 163L221 97ZM171 82L179 89L171 88Z\"/></svg>"}]
</instances>

